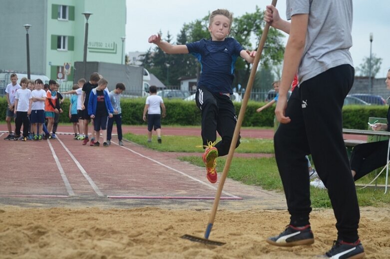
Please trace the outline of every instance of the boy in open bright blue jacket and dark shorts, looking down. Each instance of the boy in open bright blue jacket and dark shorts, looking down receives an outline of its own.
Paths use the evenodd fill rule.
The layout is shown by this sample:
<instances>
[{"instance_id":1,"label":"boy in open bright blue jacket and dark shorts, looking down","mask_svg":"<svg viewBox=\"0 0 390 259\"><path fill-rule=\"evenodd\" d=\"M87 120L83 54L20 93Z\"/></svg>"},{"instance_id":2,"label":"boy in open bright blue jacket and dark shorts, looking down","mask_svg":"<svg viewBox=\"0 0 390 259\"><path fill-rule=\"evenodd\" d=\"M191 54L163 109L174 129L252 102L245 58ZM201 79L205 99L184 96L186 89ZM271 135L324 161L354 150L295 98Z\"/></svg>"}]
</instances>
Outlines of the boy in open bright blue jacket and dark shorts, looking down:
<instances>
[{"instance_id":1,"label":"boy in open bright blue jacket and dark shorts, looking down","mask_svg":"<svg viewBox=\"0 0 390 259\"><path fill-rule=\"evenodd\" d=\"M107 80L101 78L97 82L97 87L93 88L89 94L88 113L93 120L93 128L95 130L95 140L93 145L99 146L100 129L103 135L103 146L108 147L107 143L107 119L112 118L114 109L112 109L111 101L107 88Z\"/></svg>"}]
</instances>

